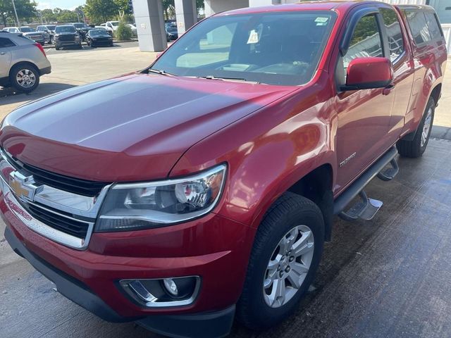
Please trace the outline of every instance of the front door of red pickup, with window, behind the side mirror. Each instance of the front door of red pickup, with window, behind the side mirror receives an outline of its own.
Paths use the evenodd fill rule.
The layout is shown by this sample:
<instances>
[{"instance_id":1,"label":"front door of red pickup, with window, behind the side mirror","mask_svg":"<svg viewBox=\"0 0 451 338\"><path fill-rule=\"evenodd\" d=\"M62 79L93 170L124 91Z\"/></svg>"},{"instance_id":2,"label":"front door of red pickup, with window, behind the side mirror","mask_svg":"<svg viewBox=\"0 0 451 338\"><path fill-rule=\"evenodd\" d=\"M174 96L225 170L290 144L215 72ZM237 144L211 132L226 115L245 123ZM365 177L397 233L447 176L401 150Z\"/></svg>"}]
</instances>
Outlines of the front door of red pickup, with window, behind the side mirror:
<instances>
[{"instance_id":1,"label":"front door of red pickup, with window, behind the side mirror","mask_svg":"<svg viewBox=\"0 0 451 338\"><path fill-rule=\"evenodd\" d=\"M385 88L340 92L346 83L347 65L354 58L387 57L383 49L382 18L378 8L351 14L346 30L351 39L345 55L338 57L335 77L338 129L335 139L338 162L335 192L365 170L391 145L387 139L394 97Z\"/></svg>"}]
</instances>

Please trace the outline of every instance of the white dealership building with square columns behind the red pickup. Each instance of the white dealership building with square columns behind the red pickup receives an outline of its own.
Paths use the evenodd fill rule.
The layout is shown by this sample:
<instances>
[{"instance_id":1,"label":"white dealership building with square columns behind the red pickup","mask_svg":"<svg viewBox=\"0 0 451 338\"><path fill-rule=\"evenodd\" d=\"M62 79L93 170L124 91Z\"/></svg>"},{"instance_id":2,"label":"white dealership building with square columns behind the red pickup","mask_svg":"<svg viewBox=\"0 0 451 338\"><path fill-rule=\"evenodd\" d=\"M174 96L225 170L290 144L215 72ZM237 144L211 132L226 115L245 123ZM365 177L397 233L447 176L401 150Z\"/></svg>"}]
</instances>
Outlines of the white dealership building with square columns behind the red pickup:
<instances>
[{"instance_id":1,"label":"white dealership building with square columns behind the red pickup","mask_svg":"<svg viewBox=\"0 0 451 338\"><path fill-rule=\"evenodd\" d=\"M435 8L451 54L451 0L379 0L389 4L429 5ZM205 0L205 15L230 11L236 8L294 4L299 0ZM163 5L161 0L132 0L141 51L163 51L166 49ZM195 0L175 0L175 17L178 34L182 35L197 23Z\"/></svg>"}]
</instances>

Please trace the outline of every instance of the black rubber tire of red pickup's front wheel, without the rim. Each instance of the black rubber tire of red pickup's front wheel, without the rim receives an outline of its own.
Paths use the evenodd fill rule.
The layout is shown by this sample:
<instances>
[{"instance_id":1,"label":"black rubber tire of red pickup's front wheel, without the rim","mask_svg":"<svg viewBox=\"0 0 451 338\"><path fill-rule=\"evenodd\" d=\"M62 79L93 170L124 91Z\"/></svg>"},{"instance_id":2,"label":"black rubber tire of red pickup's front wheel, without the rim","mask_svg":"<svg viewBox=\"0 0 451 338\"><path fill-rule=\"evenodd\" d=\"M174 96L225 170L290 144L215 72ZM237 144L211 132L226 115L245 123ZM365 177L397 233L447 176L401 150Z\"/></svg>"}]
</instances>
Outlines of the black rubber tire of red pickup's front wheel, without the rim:
<instances>
[{"instance_id":1,"label":"black rubber tire of red pickup's front wheel, without the rim","mask_svg":"<svg viewBox=\"0 0 451 338\"><path fill-rule=\"evenodd\" d=\"M294 296L282 306L273 308L264 299L263 282L268 262L281 239L297 225L307 225L313 233L311 265ZM314 280L323 253L323 244L324 222L318 206L309 199L290 192L280 196L268 210L257 230L245 285L237 303L237 320L252 330L265 330L291 315Z\"/></svg>"}]
</instances>

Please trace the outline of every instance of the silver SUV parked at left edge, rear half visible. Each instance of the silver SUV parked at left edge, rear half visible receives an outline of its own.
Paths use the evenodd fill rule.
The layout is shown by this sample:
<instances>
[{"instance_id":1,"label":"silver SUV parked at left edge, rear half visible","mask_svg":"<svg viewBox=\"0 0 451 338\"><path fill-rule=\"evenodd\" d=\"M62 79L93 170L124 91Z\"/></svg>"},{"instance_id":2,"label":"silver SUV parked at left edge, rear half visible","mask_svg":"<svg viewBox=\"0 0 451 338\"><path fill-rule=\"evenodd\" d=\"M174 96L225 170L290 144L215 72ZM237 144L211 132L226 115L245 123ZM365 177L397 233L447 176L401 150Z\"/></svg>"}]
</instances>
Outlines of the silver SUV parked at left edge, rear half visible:
<instances>
[{"instance_id":1,"label":"silver SUV parked at left edge, rear half visible","mask_svg":"<svg viewBox=\"0 0 451 338\"><path fill-rule=\"evenodd\" d=\"M32 92L39 77L51 73L51 65L40 44L22 34L0 32L0 86Z\"/></svg>"}]
</instances>

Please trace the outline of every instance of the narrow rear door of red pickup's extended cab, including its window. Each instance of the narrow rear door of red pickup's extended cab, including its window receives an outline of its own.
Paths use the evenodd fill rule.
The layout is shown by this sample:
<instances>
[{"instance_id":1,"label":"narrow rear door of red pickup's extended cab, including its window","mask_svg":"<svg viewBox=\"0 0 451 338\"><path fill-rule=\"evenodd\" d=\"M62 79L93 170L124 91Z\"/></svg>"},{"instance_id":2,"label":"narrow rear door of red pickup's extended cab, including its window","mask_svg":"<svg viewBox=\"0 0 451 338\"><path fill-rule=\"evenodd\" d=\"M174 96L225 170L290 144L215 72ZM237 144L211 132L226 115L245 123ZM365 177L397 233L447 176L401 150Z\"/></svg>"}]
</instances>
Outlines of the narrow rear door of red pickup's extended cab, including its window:
<instances>
[{"instance_id":1,"label":"narrow rear door of red pickup's extended cab, including its window","mask_svg":"<svg viewBox=\"0 0 451 338\"><path fill-rule=\"evenodd\" d=\"M396 142L404 128L405 117L412 97L412 85L414 83L414 62L412 51L409 49L406 30L398 13L391 7L379 8L383 18L383 37L385 49L388 50L390 61L393 65L393 92L395 100L390 118L390 130L388 139Z\"/></svg>"}]
</instances>

